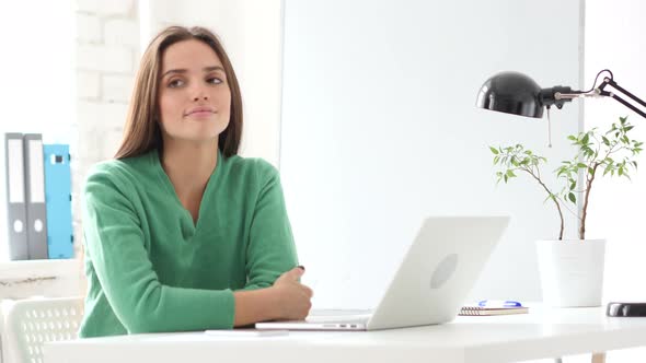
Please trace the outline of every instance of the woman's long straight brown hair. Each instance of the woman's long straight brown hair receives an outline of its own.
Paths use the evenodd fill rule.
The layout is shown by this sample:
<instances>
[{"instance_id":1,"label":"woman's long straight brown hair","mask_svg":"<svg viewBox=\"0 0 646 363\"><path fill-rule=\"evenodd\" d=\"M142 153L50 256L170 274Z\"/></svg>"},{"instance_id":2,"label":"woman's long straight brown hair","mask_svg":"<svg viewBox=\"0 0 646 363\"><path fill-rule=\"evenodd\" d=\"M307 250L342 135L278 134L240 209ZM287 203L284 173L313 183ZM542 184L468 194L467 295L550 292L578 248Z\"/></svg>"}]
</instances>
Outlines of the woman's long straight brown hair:
<instances>
[{"instance_id":1,"label":"woman's long straight brown hair","mask_svg":"<svg viewBox=\"0 0 646 363\"><path fill-rule=\"evenodd\" d=\"M164 50L171 45L189 39L204 42L214 49L220 61L222 61L231 91L231 118L229 126L218 138L218 148L224 156L238 154L242 136L242 96L235 72L224 51L224 47L222 47L218 37L207 28L199 26L170 26L150 42L141 57L126 117L124 138L114 156L115 159L138 156L153 149L163 150L161 130L157 121L157 115L159 114L157 99L162 57Z\"/></svg>"}]
</instances>

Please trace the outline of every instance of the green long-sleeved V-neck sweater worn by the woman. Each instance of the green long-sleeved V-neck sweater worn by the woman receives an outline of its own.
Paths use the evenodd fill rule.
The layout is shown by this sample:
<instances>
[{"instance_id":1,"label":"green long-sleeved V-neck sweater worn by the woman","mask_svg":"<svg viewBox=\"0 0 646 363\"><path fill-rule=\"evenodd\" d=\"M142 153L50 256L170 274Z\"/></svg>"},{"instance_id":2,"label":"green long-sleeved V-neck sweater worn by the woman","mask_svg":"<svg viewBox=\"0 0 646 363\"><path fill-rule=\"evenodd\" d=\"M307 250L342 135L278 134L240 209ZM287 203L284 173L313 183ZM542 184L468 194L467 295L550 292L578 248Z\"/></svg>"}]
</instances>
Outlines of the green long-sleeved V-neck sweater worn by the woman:
<instances>
[{"instance_id":1,"label":"green long-sleeved V-neck sweater worn by the woman","mask_svg":"<svg viewBox=\"0 0 646 363\"><path fill-rule=\"evenodd\" d=\"M97 164L84 189L80 337L231 328L235 290L297 266L278 172L218 154L193 222L157 151Z\"/></svg>"}]
</instances>

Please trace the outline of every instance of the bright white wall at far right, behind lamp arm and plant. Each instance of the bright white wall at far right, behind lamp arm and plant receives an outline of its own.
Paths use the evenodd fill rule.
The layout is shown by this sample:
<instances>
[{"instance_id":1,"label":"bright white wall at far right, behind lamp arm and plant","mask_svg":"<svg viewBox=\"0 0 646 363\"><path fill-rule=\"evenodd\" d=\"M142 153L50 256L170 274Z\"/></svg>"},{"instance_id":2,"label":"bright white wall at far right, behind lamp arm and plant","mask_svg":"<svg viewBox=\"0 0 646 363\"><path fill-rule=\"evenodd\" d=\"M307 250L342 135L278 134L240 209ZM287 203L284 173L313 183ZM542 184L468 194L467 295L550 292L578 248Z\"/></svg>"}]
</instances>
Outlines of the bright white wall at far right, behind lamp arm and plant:
<instances>
[{"instance_id":1,"label":"bright white wall at far right, behind lamp arm and plant","mask_svg":"<svg viewBox=\"0 0 646 363\"><path fill-rule=\"evenodd\" d=\"M601 69L610 69L624 89L646 101L646 3L642 0L586 2L586 89ZM608 129L620 116L635 125L632 138L646 141L646 119L610 98L586 99L586 128ZM635 103L636 105L636 103ZM646 107L642 107L646 110ZM608 238L603 300L646 302L646 171L644 155L632 182L595 182L588 236ZM608 362L644 362L646 349L611 352Z\"/></svg>"}]
</instances>

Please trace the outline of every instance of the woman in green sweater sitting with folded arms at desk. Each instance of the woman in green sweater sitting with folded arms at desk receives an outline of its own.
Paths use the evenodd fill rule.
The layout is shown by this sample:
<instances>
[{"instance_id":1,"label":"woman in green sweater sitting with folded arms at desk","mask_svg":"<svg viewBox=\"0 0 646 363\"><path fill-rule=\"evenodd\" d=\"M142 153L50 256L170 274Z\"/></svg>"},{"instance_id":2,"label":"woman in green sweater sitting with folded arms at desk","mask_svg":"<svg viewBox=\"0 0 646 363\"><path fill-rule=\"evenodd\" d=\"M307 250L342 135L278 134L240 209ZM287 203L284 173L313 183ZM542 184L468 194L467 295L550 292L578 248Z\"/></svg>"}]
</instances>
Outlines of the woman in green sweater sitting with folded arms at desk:
<instances>
[{"instance_id":1,"label":"woman in green sweater sitting with folded arms at desk","mask_svg":"<svg viewBox=\"0 0 646 363\"><path fill-rule=\"evenodd\" d=\"M312 291L277 171L237 155L242 99L217 37L162 31L146 50L115 160L84 189L81 337L302 319Z\"/></svg>"}]
</instances>

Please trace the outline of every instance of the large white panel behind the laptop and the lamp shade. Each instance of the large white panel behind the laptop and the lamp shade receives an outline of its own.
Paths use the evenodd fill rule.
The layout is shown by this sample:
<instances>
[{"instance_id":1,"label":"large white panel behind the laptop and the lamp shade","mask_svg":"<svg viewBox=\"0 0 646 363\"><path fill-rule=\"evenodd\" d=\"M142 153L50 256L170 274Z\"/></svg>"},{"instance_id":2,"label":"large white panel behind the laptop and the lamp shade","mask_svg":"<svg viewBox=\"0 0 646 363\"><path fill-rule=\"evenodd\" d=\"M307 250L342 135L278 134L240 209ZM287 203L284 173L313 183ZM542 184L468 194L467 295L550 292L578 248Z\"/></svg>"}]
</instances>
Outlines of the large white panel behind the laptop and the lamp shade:
<instances>
[{"instance_id":1,"label":"large white panel behind the laptop and the lamp shade","mask_svg":"<svg viewBox=\"0 0 646 363\"><path fill-rule=\"evenodd\" d=\"M557 214L528 178L496 187L487 145L524 143L549 174L579 109L554 113L547 149L545 121L474 103L501 70L578 87L580 17L579 1L285 1L280 166L314 306L373 306L434 214L511 215L472 296L541 298L534 241Z\"/></svg>"}]
</instances>

